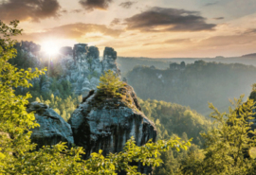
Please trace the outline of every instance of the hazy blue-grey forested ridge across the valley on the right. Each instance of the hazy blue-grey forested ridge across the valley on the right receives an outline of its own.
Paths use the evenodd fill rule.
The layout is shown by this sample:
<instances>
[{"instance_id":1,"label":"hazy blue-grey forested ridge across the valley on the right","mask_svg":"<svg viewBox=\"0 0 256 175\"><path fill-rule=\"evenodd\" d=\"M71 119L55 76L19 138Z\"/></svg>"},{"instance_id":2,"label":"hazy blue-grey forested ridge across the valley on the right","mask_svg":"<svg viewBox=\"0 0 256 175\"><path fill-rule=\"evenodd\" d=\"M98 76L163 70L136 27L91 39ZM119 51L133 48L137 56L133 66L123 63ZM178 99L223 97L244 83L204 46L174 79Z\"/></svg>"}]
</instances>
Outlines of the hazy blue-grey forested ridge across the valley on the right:
<instances>
[{"instance_id":1,"label":"hazy blue-grey forested ridge across the valley on the right","mask_svg":"<svg viewBox=\"0 0 256 175\"><path fill-rule=\"evenodd\" d=\"M165 70L137 66L126 78L142 99L190 106L200 114L209 115L208 102L224 111L229 107L229 99L249 95L256 79L256 67L206 61L195 61L183 67L171 63Z\"/></svg>"}]
</instances>

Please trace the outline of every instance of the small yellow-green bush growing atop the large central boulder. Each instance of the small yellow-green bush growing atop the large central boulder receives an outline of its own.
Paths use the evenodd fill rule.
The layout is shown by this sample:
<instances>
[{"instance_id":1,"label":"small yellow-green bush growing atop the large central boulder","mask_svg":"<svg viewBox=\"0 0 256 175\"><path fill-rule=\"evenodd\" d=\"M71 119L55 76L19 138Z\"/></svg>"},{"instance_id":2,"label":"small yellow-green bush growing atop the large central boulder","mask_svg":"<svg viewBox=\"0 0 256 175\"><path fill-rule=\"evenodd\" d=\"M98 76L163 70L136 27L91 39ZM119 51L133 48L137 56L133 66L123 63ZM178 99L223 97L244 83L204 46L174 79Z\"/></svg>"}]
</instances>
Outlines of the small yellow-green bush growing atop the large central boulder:
<instances>
[{"instance_id":1,"label":"small yellow-green bush growing atop the large central boulder","mask_svg":"<svg viewBox=\"0 0 256 175\"><path fill-rule=\"evenodd\" d=\"M107 97L119 97L119 89L124 87L124 83L119 79L113 71L105 71L105 74L100 78L100 85L97 88Z\"/></svg>"}]
</instances>

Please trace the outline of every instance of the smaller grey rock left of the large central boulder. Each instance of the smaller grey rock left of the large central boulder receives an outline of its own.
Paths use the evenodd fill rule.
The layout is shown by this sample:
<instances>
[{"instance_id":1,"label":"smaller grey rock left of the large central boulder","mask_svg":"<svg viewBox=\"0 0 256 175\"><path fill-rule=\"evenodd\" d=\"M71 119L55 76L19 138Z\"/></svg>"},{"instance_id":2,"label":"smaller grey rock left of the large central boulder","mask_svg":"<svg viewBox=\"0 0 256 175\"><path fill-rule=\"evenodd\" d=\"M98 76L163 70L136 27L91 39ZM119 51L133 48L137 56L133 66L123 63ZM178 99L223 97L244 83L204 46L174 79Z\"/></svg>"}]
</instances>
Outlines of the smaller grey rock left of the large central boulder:
<instances>
[{"instance_id":1,"label":"smaller grey rock left of the large central boulder","mask_svg":"<svg viewBox=\"0 0 256 175\"><path fill-rule=\"evenodd\" d=\"M74 143L70 125L62 116L54 112L46 104L32 102L27 105L27 112L34 112L40 127L32 129L31 141L37 144L37 149L43 146L53 146L66 142L68 146Z\"/></svg>"}]
</instances>

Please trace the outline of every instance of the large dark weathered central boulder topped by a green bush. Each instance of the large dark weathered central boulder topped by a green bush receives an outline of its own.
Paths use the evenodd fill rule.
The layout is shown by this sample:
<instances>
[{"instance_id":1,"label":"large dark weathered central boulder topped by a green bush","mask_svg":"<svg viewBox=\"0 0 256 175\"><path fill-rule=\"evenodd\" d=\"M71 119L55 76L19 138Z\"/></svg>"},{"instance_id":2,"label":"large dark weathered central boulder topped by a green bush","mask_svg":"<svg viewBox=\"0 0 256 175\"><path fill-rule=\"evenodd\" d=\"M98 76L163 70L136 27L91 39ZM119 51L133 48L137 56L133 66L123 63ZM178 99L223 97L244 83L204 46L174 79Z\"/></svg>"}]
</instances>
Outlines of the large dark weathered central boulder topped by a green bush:
<instances>
[{"instance_id":1,"label":"large dark weathered central boulder topped by a green bush","mask_svg":"<svg viewBox=\"0 0 256 175\"><path fill-rule=\"evenodd\" d=\"M91 91L68 120L75 144L86 151L84 159L99 149L104 155L119 152L132 136L137 146L155 141L155 125L141 112L133 88L126 85L119 91L122 98ZM138 170L148 174L151 168L140 166Z\"/></svg>"}]
</instances>

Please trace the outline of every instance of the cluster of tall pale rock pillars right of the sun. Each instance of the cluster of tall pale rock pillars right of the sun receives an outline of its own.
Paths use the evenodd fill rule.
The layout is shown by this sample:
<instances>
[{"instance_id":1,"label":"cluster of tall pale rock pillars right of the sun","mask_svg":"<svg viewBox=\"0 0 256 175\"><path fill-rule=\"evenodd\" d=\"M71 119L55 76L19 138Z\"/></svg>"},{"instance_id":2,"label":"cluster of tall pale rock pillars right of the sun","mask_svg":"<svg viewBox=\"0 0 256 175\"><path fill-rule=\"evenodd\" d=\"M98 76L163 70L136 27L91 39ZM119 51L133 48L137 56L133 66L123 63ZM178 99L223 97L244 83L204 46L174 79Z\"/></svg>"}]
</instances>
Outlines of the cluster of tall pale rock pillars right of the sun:
<instances>
[{"instance_id":1,"label":"cluster of tall pale rock pillars right of the sun","mask_svg":"<svg viewBox=\"0 0 256 175\"><path fill-rule=\"evenodd\" d=\"M87 95L99 85L99 79L104 71L111 69L120 76L117 65L117 52L106 47L104 57L100 60L100 51L96 46L75 44L72 52L70 47L63 47L59 64L62 67L62 78L72 83L73 91L77 95ZM71 54L72 53L72 54Z\"/></svg>"}]
</instances>

